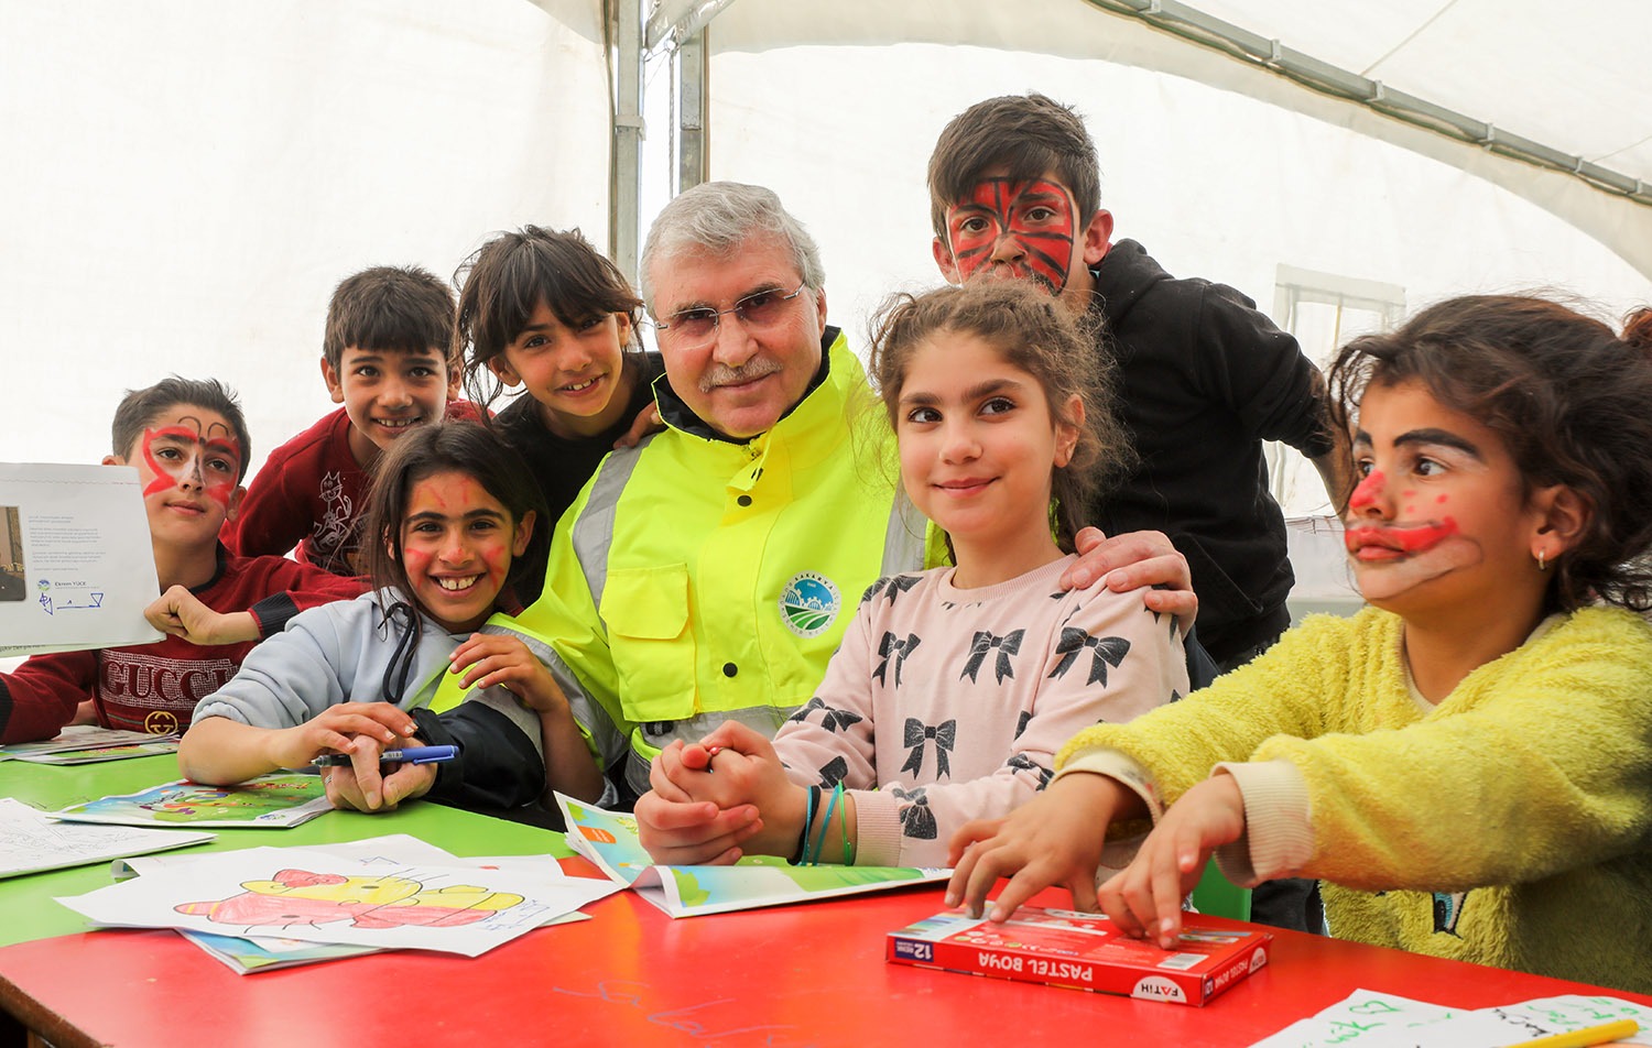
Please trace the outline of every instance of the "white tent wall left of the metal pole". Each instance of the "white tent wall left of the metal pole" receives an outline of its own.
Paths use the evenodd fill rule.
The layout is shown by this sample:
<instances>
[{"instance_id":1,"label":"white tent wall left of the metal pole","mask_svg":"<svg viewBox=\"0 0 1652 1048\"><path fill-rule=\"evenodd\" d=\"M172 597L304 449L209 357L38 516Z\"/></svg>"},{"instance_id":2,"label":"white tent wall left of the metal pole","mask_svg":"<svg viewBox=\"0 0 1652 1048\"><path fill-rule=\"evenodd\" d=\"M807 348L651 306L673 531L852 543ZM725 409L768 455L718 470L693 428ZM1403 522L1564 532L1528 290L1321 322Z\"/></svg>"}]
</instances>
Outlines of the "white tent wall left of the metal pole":
<instances>
[{"instance_id":1,"label":"white tent wall left of the metal pole","mask_svg":"<svg viewBox=\"0 0 1652 1048\"><path fill-rule=\"evenodd\" d=\"M253 462L332 409L334 284L608 236L596 0L0 0L0 459L96 462L124 389L240 389Z\"/></svg>"}]
</instances>

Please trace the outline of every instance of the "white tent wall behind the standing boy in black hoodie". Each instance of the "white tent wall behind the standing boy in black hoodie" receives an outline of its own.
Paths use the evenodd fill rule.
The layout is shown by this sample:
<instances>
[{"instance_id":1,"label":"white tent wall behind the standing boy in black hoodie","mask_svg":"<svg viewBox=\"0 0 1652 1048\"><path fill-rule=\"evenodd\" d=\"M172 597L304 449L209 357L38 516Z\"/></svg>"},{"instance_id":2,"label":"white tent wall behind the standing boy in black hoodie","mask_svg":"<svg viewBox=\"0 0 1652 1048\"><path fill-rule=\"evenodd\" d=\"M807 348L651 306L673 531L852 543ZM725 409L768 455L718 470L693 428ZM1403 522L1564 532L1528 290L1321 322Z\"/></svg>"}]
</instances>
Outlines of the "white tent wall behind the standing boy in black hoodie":
<instances>
[{"instance_id":1,"label":"white tent wall behind the standing boy in black hoodie","mask_svg":"<svg viewBox=\"0 0 1652 1048\"><path fill-rule=\"evenodd\" d=\"M1171 272L1249 294L1322 360L1454 294L1576 295L1606 320L1652 300L1652 208L1307 92L1082 0L938 7L740 0L707 33L712 177L781 193L821 239L831 315L854 333L887 290L940 281L923 185L940 129L975 101L1028 89L1085 114L1117 236L1143 241ZM1297 10L1302 26L1336 28L1322 7L1355 8ZM1404 7L1396 20L1411 25ZM1366 40L1370 20L1353 21L1366 28L1350 38ZM1366 45L1391 50L1393 35ZM1459 45L1457 66L1500 61ZM1426 83L1408 89L1427 94ZM1472 111L1475 99L1454 104ZM1629 114L1619 139L1596 142L1644 124ZM1280 469L1279 490L1290 513L1327 508L1300 464Z\"/></svg>"}]
</instances>

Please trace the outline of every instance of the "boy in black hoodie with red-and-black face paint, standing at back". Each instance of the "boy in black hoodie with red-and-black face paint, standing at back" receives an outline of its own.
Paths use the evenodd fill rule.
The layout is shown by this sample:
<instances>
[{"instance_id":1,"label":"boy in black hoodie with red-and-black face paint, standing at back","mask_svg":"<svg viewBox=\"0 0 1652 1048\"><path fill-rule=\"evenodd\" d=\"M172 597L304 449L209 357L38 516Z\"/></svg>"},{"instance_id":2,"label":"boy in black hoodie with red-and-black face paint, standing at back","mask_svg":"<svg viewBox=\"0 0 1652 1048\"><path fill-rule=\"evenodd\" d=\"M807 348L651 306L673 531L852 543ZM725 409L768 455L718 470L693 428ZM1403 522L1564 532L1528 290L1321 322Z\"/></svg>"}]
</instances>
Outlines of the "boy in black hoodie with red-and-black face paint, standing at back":
<instances>
[{"instance_id":1,"label":"boy in black hoodie with red-and-black face paint, standing at back","mask_svg":"<svg viewBox=\"0 0 1652 1048\"><path fill-rule=\"evenodd\" d=\"M1117 368L1115 411L1138 464L1085 508L1108 535L1153 530L1193 568L1198 640L1221 670L1290 624L1285 520L1264 441L1313 460L1332 508L1351 489L1346 434L1327 423L1325 380L1297 340L1231 287L1176 279L1142 244L1113 243L1100 163L1079 116L1042 96L986 99L942 130L928 163L935 264L947 281L1021 279L1095 330ZM1254 896L1256 919L1313 929L1313 911Z\"/></svg>"}]
</instances>

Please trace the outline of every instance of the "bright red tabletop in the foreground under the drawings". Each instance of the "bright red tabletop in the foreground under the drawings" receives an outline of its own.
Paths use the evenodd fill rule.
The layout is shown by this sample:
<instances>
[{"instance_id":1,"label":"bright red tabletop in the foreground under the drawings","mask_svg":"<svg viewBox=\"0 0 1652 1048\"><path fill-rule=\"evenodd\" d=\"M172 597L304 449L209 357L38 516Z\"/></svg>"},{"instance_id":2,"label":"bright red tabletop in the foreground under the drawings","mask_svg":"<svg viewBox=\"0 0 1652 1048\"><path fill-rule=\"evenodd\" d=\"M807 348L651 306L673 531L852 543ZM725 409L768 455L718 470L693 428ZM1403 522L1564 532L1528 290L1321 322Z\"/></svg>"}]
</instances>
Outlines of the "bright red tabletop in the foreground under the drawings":
<instances>
[{"instance_id":1,"label":"bright red tabletop in the foreground under the drawings","mask_svg":"<svg viewBox=\"0 0 1652 1048\"><path fill-rule=\"evenodd\" d=\"M1041 903L1061 904L1064 893ZM672 921L631 893L477 959L388 952L236 975L170 931L0 949L0 1003L73 1045L1247 1045L1355 989L1479 1008L1652 997L1275 932L1272 964L1203 1008L915 969L884 936L938 888ZM1237 923L1231 923L1237 924Z\"/></svg>"}]
</instances>

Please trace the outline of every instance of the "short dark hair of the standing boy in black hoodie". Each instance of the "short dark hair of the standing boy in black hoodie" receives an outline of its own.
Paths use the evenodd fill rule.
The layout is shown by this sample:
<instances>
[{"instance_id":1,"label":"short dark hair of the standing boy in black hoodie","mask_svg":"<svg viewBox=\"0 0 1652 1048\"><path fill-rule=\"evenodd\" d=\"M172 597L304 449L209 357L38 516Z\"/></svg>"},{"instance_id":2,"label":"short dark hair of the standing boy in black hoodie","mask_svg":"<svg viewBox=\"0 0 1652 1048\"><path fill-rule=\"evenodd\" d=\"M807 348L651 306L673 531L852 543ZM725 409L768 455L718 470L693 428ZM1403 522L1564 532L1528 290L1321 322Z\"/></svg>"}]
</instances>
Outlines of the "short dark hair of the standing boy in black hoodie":
<instances>
[{"instance_id":1,"label":"short dark hair of the standing boy in black hoodie","mask_svg":"<svg viewBox=\"0 0 1652 1048\"><path fill-rule=\"evenodd\" d=\"M947 208L968 198L986 172L999 167L1018 182L1054 172L1079 210L1075 226L1102 210L1102 165L1079 114L1036 91L1006 94L955 116L930 153L930 224L943 244Z\"/></svg>"}]
</instances>

